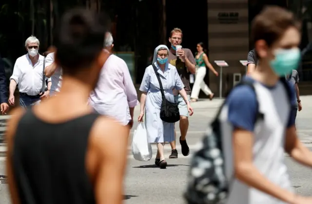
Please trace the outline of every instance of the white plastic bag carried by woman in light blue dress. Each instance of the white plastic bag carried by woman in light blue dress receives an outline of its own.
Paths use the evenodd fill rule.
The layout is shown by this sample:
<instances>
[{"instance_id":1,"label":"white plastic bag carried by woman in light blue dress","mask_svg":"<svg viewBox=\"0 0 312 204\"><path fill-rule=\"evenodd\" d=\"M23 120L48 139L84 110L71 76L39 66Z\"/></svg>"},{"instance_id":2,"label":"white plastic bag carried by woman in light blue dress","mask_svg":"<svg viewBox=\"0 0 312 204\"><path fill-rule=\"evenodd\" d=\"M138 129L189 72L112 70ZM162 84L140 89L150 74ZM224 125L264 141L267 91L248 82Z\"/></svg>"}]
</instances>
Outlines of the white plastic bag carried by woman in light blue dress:
<instances>
[{"instance_id":1,"label":"white plastic bag carried by woman in light blue dress","mask_svg":"<svg viewBox=\"0 0 312 204\"><path fill-rule=\"evenodd\" d=\"M150 161L153 156L152 146L147 141L147 132L144 122L137 125L132 138L132 154L138 161Z\"/></svg>"}]
</instances>

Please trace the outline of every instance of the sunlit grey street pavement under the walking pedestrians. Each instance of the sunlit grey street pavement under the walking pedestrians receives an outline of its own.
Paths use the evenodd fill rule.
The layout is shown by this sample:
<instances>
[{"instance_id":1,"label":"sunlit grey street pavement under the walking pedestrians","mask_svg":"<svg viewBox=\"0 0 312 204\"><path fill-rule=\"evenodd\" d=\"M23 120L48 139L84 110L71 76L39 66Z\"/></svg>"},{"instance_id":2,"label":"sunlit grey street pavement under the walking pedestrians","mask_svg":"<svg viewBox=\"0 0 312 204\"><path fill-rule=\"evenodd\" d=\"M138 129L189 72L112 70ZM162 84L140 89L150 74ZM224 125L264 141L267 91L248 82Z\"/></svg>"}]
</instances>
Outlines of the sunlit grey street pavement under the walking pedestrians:
<instances>
[{"instance_id":1,"label":"sunlit grey street pavement under the walking pedestrians","mask_svg":"<svg viewBox=\"0 0 312 204\"><path fill-rule=\"evenodd\" d=\"M296 126L300 140L312 150L312 96L301 97L303 110L297 114ZM183 204L182 194L187 181L190 158L195 151L195 146L201 140L203 133L209 122L215 116L217 108L222 103L220 99L213 101L202 100L192 103L194 115L190 117L187 142L190 146L191 154L184 157L181 154L180 144L177 141L178 159L168 159L171 148L165 145L165 156L167 158L167 169L159 169L154 165L156 155L156 145L153 144L153 158L148 162L136 161L131 154L132 134L129 138L129 153L127 174L125 177L125 204ZM135 110L135 118L139 114L139 106ZM134 124L134 129L137 122ZM179 126L176 124L177 136L179 136ZM0 146L1 148L4 147ZM310 168L292 162L291 158L285 154L286 163L292 180L292 185L297 193L301 195L312 195L312 171ZM4 158L0 158L0 175L5 175ZM1 181L1 177L0 177ZM4 180L2 180L4 181ZM7 184L0 184L0 204L9 204Z\"/></svg>"}]
</instances>

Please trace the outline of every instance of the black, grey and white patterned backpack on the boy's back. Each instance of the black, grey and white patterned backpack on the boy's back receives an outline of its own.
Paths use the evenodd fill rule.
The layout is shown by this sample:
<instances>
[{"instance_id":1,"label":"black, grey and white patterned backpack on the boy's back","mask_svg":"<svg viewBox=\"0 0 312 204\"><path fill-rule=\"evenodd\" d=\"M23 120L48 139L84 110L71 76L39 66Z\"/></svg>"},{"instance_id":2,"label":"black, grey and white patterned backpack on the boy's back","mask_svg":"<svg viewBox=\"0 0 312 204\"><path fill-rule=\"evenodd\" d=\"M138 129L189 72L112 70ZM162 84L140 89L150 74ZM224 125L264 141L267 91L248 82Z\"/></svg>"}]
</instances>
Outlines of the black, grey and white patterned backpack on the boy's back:
<instances>
[{"instance_id":1,"label":"black, grey and white patterned backpack on the boy's back","mask_svg":"<svg viewBox=\"0 0 312 204\"><path fill-rule=\"evenodd\" d=\"M280 81L284 84L290 101L290 86L285 78L281 78ZM236 84L236 86L240 85L248 85L255 91L253 82L243 80ZM225 103L226 99L206 131L201 141L201 148L195 152L191 160L187 189L184 193L187 204L223 204L229 196L234 177L228 180L225 174L222 129L219 121ZM264 115L258 111L256 120L263 118Z\"/></svg>"}]
</instances>

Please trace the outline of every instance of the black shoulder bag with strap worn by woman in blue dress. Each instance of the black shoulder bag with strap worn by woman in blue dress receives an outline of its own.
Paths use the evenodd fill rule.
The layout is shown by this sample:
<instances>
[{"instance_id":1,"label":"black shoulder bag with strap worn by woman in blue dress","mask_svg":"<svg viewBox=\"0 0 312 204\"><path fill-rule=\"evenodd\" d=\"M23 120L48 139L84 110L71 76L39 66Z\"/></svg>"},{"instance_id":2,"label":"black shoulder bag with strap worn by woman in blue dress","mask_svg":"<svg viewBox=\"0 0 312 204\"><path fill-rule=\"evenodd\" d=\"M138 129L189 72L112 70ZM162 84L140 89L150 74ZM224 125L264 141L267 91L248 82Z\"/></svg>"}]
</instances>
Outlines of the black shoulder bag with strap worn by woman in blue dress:
<instances>
[{"instance_id":1,"label":"black shoulder bag with strap worn by woman in blue dress","mask_svg":"<svg viewBox=\"0 0 312 204\"><path fill-rule=\"evenodd\" d=\"M160 107L160 119L164 122L178 122L180 120L180 112L176 102L170 102L166 99L162 83L160 81L159 73L154 64L152 64L155 71L157 80L159 82L160 92L162 96L162 102Z\"/></svg>"}]
</instances>

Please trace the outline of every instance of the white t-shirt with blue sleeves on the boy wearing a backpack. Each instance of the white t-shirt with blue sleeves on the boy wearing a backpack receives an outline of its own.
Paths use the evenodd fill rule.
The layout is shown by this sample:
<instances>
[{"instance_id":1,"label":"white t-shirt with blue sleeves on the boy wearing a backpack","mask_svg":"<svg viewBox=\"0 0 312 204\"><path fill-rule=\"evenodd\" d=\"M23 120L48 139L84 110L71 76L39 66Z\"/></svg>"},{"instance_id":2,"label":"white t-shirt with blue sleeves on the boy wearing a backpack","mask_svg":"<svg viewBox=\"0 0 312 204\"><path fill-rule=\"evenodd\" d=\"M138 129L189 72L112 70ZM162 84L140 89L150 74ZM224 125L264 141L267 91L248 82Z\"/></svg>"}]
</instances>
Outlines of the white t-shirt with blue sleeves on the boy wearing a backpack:
<instances>
[{"instance_id":1,"label":"white t-shirt with blue sleeves on the boy wearing a backpack","mask_svg":"<svg viewBox=\"0 0 312 204\"><path fill-rule=\"evenodd\" d=\"M231 136L235 126L254 132L253 159L260 173L272 183L292 191L284 162L285 131L294 124L287 91L282 82L277 82L273 87L254 82L254 88L256 95L247 85L235 87L220 114L222 137L225 141L223 149L226 176L232 180ZM258 110L264 114L264 119L254 123ZM284 202L235 179L227 204L284 204Z\"/></svg>"}]
</instances>

